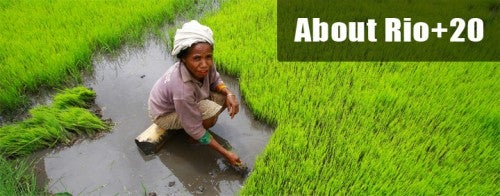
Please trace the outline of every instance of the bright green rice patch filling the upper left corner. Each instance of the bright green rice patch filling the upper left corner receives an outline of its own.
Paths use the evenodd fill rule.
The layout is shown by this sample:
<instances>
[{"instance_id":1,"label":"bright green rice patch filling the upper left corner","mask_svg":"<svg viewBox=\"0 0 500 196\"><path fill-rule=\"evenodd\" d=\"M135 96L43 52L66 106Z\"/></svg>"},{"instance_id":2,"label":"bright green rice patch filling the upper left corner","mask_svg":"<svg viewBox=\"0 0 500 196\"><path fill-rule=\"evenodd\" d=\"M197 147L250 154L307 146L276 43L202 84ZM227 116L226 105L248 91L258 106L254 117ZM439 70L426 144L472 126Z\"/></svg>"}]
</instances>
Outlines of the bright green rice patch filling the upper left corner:
<instances>
[{"instance_id":1,"label":"bright green rice patch filling the upper left corner","mask_svg":"<svg viewBox=\"0 0 500 196\"><path fill-rule=\"evenodd\" d=\"M194 0L2 1L0 114L28 104L27 94L81 81L96 51L142 43L144 32L192 10Z\"/></svg>"}]
</instances>

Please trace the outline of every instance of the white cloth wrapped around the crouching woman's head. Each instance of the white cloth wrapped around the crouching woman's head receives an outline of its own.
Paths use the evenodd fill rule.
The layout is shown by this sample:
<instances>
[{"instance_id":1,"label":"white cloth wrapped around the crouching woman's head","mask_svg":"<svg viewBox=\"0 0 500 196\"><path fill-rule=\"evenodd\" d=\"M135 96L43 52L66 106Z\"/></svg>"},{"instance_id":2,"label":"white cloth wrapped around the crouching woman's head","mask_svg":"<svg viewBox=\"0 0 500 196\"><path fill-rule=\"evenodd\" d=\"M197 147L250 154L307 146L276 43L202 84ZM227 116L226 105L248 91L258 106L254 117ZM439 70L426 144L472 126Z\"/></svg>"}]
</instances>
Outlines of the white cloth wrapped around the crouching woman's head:
<instances>
[{"instance_id":1,"label":"white cloth wrapped around the crouching woman's head","mask_svg":"<svg viewBox=\"0 0 500 196\"><path fill-rule=\"evenodd\" d=\"M174 37L174 49L172 55L177 56L182 50L191 47L194 43L208 42L214 45L212 30L200 24L196 20L184 23L181 29L177 29Z\"/></svg>"}]
</instances>

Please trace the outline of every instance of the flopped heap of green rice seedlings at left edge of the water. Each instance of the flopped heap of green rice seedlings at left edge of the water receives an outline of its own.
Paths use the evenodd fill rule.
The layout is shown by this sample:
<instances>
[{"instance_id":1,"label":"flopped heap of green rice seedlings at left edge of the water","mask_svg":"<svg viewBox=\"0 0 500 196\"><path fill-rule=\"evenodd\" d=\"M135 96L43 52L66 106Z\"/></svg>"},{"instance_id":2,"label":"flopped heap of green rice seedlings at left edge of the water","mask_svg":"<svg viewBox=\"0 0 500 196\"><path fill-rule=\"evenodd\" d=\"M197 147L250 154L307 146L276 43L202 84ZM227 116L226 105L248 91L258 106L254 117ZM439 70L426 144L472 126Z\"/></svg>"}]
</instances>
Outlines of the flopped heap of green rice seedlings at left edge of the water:
<instances>
[{"instance_id":1,"label":"flopped heap of green rice seedlings at left edge of the water","mask_svg":"<svg viewBox=\"0 0 500 196\"><path fill-rule=\"evenodd\" d=\"M85 87L62 90L52 105L37 106L29 118L0 128L0 154L25 156L34 151L68 144L77 135L92 135L109 130L109 125L85 108L95 92Z\"/></svg>"}]
</instances>

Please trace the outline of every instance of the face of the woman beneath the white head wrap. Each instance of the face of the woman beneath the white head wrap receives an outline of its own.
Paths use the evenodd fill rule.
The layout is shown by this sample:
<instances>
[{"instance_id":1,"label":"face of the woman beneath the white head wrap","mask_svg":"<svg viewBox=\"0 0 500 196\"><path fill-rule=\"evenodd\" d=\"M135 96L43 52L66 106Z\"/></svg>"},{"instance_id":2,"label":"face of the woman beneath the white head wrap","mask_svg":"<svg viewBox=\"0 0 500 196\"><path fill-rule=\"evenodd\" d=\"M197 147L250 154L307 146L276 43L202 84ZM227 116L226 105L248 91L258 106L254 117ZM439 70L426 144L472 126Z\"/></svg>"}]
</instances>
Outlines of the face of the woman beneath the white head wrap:
<instances>
[{"instance_id":1,"label":"face of the woman beneath the white head wrap","mask_svg":"<svg viewBox=\"0 0 500 196\"><path fill-rule=\"evenodd\" d=\"M212 51L212 46L208 43L196 43L188 49L182 62L194 78L203 80L208 75L208 71L214 65Z\"/></svg>"}]
</instances>

